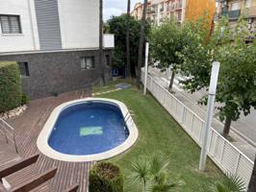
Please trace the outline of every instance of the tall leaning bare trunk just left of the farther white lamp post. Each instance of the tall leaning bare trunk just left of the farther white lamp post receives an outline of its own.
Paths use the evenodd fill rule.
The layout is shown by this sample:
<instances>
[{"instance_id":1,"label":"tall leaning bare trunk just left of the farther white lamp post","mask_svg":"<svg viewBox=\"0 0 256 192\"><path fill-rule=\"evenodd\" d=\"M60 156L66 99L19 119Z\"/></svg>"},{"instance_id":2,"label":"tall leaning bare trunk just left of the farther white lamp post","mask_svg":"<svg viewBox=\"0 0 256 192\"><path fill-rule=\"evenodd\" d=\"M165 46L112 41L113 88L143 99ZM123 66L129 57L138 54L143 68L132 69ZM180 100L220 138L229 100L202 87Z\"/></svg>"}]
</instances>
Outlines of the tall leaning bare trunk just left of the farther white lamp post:
<instances>
[{"instance_id":1,"label":"tall leaning bare trunk just left of the farther white lamp post","mask_svg":"<svg viewBox=\"0 0 256 192\"><path fill-rule=\"evenodd\" d=\"M147 9L147 0L144 0L142 19L141 19L139 58L138 58L138 68L137 68L137 86L139 89L141 88L141 63L142 63L142 54L143 54L143 44L144 44L144 38L145 38L146 9Z\"/></svg>"}]
</instances>

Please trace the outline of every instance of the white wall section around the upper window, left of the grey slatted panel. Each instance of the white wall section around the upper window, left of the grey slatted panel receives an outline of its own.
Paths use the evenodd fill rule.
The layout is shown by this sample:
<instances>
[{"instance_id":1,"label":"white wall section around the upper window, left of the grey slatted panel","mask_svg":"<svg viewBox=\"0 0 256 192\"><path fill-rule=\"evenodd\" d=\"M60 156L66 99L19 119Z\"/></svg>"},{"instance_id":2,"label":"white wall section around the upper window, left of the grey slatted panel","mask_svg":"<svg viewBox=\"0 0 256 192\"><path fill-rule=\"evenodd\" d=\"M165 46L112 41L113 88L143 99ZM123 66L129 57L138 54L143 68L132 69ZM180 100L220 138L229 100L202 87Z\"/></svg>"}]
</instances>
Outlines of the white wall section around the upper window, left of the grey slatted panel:
<instances>
[{"instance_id":1,"label":"white wall section around the upper window, left of the grey slatted panel","mask_svg":"<svg viewBox=\"0 0 256 192\"><path fill-rule=\"evenodd\" d=\"M30 12L29 5L31 5L32 12ZM2 29L0 29L0 53L38 50L38 36L37 34L35 36L34 32L37 32L37 25L32 25L32 20L34 24L36 22L33 1L0 0L0 14L20 15L22 29L22 34L18 35L2 34Z\"/></svg>"}]
</instances>

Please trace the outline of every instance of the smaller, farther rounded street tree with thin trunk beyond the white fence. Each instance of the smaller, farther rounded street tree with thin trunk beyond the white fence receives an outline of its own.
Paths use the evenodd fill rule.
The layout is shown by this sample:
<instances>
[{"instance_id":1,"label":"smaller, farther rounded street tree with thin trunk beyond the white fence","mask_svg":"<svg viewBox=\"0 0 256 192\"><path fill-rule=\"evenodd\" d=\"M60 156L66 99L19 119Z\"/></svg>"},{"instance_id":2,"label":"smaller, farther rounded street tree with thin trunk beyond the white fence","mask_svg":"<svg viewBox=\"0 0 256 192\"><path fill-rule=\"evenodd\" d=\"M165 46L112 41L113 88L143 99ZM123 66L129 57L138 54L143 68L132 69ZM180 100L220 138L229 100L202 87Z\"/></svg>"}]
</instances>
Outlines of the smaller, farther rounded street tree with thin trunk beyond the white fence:
<instances>
[{"instance_id":1,"label":"smaller, farther rounded street tree with thin trunk beyond the white fence","mask_svg":"<svg viewBox=\"0 0 256 192\"><path fill-rule=\"evenodd\" d=\"M172 89L175 74L180 69L183 59L179 57L188 44L186 33L172 19L167 19L161 26L154 27L150 36L151 57L158 63L161 71L171 67L169 91Z\"/></svg>"}]
</instances>

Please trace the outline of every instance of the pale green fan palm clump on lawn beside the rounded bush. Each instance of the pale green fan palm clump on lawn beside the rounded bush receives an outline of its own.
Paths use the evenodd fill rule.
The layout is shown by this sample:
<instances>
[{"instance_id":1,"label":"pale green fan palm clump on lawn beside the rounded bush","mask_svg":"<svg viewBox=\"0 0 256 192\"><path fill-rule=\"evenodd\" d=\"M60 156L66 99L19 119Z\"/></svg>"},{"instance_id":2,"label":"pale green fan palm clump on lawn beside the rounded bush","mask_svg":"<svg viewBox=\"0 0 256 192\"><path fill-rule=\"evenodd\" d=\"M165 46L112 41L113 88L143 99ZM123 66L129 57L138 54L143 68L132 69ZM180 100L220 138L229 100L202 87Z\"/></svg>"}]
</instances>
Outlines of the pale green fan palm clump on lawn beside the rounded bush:
<instances>
[{"instance_id":1,"label":"pale green fan palm clump on lawn beside the rounded bush","mask_svg":"<svg viewBox=\"0 0 256 192\"><path fill-rule=\"evenodd\" d=\"M168 192L179 182L170 183L166 177L168 158L154 155L151 158L139 158L132 164L130 179L142 185L142 191Z\"/></svg>"}]
</instances>

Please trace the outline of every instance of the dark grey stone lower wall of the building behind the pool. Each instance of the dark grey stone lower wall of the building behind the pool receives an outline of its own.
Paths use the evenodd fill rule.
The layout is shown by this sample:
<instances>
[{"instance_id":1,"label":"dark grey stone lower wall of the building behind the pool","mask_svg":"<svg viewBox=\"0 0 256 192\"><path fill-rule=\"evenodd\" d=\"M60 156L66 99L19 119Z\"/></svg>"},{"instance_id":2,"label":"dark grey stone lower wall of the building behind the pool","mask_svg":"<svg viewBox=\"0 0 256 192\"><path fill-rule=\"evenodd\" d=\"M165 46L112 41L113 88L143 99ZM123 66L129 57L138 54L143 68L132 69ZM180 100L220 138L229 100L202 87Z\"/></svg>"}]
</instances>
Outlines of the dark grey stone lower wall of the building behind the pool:
<instances>
[{"instance_id":1,"label":"dark grey stone lower wall of the building behind the pool","mask_svg":"<svg viewBox=\"0 0 256 192\"><path fill-rule=\"evenodd\" d=\"M105 55L112 58L112 50L105 50ZM94 57L94 69L81 69L81 57L86 56ZM99 82L98 50L2 55L0 60L28 62L30 76L22 77L22 86L31 99L76 90ZM110 81L108 66L105 72L106 80Z\"/></svg>"}]
</instances>

